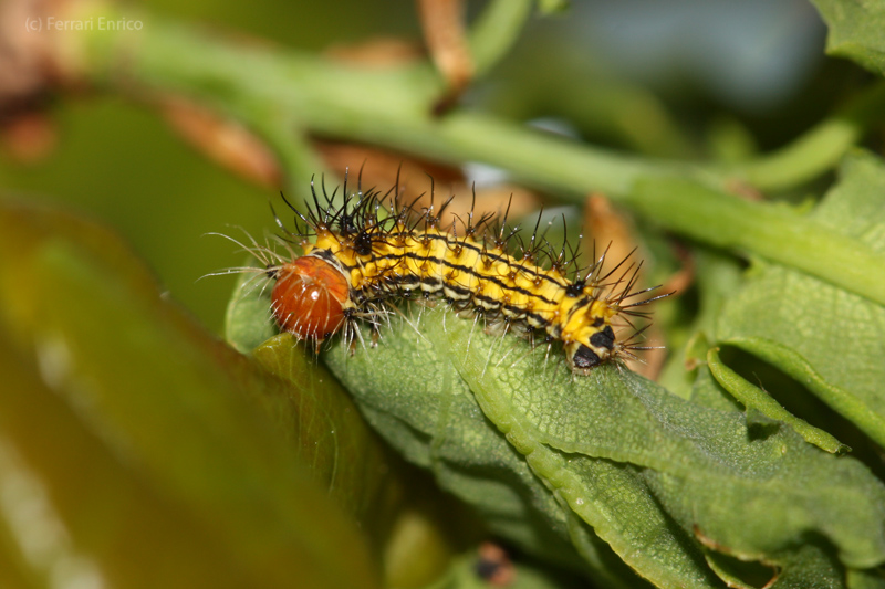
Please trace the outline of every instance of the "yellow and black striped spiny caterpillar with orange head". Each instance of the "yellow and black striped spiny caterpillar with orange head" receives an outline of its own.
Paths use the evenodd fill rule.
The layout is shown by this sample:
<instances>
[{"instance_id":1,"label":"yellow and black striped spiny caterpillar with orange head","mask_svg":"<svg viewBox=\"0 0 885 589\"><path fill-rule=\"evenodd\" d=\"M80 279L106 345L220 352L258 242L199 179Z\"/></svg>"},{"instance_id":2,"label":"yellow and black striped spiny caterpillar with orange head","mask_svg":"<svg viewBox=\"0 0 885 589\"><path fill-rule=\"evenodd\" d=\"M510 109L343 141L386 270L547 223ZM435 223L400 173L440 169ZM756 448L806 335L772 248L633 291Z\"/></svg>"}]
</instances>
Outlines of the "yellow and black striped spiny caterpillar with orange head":
<instances>
[{"instance_id":1,"label":"yellow and black striped spiny caterpillar with orange head","mask_svg":"<svg viewBox=\"0 0 885 589\"><path fill-rule=\"evenodd\" d=\"M533 341L561 341L575 374L653 349L636 345L648 326L636 328L631 317L647 318L637 307L671 293L644 297L659 286L635 290L642 263L624 267L629 255L604 272L606 249L579 269L568 244L555 250L539 234L540 215L528 244L518 228L507 229L507 213L496 223L491 213L476 218L472 207L466 219L452 214L446 229L451 198L437 209L431 190L430 206L419 210L417 201L400 201L398 179L386 193L364 192L362 186L350 193L345 175L340 203L337 189L330 196L323 185L317 196L313 179L311 193L306 213L282 196L294 212L295 232L273 211L281 238L300 245L303 255L274 254L263 272L275 281L271 311L279 327L312 340L317 350L339 332L353 349L361 323L371 326L376 344L392 302L417 296L481 315L487 328L502 325ZM514 255L508 252L512 240L520 250ZM632 335L622 338L625 327Z\"/></svg>"}]
</instances>

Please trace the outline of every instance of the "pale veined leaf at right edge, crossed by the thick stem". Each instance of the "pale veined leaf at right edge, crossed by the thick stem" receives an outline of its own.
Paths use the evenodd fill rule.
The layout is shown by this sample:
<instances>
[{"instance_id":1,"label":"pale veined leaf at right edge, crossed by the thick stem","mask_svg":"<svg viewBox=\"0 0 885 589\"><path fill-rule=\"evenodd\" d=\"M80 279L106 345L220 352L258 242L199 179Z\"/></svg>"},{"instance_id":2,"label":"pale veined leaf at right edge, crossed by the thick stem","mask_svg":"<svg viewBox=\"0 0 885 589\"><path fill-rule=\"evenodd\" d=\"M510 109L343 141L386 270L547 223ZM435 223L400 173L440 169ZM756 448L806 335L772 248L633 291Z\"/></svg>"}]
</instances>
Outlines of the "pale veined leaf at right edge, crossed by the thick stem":
<instances>
[{"instance_id":1,"label":"pale veined leaf at right edge, crossed by the thick stem","mask_svg":"<svg viewBox=\"0 0 885 589\"><path fill-rule=\"evenodd\" d=\"M885 252L885 166L855 152L841 177L812 217ZM767 265L726 305L717 338L777 366L885 444L881 304L800 271Z\"/></svg>"}]
</instances>

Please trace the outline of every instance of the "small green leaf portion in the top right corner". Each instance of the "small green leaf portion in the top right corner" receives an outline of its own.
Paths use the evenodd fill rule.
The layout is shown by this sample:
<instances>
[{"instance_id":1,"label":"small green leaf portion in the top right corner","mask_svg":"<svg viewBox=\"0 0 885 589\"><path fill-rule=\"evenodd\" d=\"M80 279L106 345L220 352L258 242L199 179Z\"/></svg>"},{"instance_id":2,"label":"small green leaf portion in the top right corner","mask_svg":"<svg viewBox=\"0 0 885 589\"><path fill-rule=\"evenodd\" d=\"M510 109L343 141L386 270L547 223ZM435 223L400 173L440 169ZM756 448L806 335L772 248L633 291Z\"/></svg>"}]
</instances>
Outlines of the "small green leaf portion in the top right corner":
<instances>
[{"instance_id":1,"label":"small green leaf portion in the top right corner","mask_svg":"<svg viewBox=\"0 0 885 589\"><path fill-rule=\"evenodd\" d=\"M885 74L885 6L882 2L812 0L826 27L826 53Z\"/></svg>"}]
</instances>

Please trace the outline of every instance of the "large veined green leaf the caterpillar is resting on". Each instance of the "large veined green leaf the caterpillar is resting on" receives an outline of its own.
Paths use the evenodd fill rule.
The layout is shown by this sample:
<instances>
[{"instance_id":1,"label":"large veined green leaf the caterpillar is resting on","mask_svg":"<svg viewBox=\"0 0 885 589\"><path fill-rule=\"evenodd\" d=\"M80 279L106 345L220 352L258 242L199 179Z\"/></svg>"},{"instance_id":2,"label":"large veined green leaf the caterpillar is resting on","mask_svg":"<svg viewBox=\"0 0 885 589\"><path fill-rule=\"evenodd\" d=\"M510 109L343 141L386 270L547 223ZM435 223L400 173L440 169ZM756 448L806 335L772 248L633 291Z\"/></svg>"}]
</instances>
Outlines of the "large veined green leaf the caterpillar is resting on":
<instances>
[{"instance_id":1,"label":"large veined green leaf the caterpillar is resting on","mask_svg":"<svg viewBox=\"0 0 885 589\"><path fill-rule=\"evenodd\" d=\"M885 487L857 461L789 428L759 437L739 411L613 365L574 377L556 350L545 362L544 349L421 311L417 330L396 327L375 349L335 347L333 371L394 446L525 549L561 559L571 540L591 576L616 586L637 579L598 539L663 587L717 586L700 534L784 571L823 567L832 582L843 565L885 561ZM835 549L802 551L809 535ZM779 586L801 586L790 578Z\"/></svg>"}]
</instances>

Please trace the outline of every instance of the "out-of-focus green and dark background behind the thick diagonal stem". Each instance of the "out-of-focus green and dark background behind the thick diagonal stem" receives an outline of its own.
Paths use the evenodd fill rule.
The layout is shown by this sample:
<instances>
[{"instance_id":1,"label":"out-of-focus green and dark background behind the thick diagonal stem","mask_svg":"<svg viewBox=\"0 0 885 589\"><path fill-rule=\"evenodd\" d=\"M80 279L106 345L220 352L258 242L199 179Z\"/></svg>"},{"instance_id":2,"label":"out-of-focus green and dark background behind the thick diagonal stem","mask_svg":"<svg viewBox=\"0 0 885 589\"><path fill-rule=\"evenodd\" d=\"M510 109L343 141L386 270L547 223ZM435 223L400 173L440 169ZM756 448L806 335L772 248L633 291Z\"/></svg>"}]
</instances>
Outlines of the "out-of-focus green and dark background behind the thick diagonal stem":
<instances>
[{"instance_id":1,"label":"out-of-focus green and dark background behind the thick diagonal stem","mask_svg":"<svg viewBox=\"0 0 885 589\"><path fill-rule=\"evenodd\" d=\"M470 3L471 13L482 3ZM147 0L132 10L302 51L400 38L420 43L413 2ZM866 74L823 57L805 0L606 0L533 18L465 101L649 157L739 158L784 144ZM812 97L808 98L808 97ZM84 93L50 105L34 154L0 156L2 190L63 203L114 227L208 328L221 328L236 246L210 232L272 229L273 189L209 161L137 101ZM53 147L54 145L54 147Z\"/></svg>"}]
</instances>

